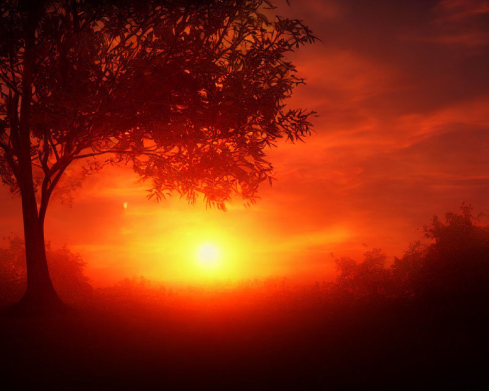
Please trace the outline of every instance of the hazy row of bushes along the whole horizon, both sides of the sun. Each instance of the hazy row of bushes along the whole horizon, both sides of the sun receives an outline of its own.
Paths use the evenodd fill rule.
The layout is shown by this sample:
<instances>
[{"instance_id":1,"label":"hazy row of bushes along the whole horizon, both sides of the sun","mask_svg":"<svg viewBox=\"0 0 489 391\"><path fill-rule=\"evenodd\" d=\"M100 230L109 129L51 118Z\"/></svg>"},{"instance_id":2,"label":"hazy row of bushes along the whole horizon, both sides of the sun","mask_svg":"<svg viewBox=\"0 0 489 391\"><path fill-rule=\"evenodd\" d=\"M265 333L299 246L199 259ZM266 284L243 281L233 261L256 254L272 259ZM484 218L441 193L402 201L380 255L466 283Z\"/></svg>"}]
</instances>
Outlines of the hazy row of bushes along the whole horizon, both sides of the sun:
<instances>
[{"instance_id":1,"label":"hazy row of bushes along the whole horizon, both sides of the sun","mask_svg":"<svg viewBox=\"0 0 489 391\"><path fill-rule=\"evenodd\" d=\"M431 224L424 226L425 240L411 243L390 265L380 249L366 252L361 261L337 259L334 282L317 285L314 295L306 296L314 300L321 295L321 301L327 297L330 303L421 300L452 306L485 300L489 294L489 225L472 213L471 206L463 206L459 213L447 213L445 219L433 217ZM74 303L90 295L92 288L84 274L86 263L79 254L67 246L53 249L48 245L47 259L53 284L65 301ZM0 300L18 299L25 284L23 241L11 238L7 248L0 248ZM262 285L251 284L247 291L287 288L285 283ZM124 297L156 286L126 279L114 289L125 291Z\"/></svg>"}]
</instances>

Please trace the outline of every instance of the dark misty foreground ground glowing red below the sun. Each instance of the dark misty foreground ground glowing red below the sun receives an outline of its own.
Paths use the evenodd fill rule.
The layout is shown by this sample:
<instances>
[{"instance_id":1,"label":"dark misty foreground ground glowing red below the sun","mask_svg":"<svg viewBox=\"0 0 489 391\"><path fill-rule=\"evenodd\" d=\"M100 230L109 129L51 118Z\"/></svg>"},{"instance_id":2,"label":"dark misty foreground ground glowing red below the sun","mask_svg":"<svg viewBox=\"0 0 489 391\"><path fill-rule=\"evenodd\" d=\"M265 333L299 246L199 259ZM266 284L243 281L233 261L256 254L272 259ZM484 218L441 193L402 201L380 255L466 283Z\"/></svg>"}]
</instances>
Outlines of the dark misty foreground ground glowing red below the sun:
<instances>
[{"instance_id":1,"label":"dark misty foreground ground glowing red below the sun","mask_svg":"<svg viewBox=\"0 0 489 391\"><path fill-rule=\"evenodd\" d=\"M3 311L0 388L432 389L488 382L484 310L331 305L313 297L104 293L65 316Z\"/></svg>"}]
</instances>

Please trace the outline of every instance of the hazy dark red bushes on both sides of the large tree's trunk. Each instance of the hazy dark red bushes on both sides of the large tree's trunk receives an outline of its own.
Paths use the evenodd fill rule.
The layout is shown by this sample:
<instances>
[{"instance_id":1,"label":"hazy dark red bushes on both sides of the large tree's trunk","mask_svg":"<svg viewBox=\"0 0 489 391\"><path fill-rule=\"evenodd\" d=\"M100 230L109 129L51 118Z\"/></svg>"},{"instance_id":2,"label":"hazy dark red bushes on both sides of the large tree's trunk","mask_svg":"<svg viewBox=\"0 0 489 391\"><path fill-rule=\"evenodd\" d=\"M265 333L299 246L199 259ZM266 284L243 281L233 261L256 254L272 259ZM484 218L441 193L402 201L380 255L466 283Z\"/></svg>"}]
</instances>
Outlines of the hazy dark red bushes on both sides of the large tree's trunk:
<instances>
[{"instance_id":1,"label":"hazy dark red bushes on both sides of the large tree's trunk","mask_svg":"<svg viewBox=\"0 0 489 391\"><path fill-rule=\"evenodd\" d=\"M86 262L67 246L53 249L46 244L47 263L53 285L67 303L89 299L92 286L84 274ZM25 291L27 270L22 239L11 238L7 248L0 248L0 302L19 300Z\"/></svg>"}]
</instances>

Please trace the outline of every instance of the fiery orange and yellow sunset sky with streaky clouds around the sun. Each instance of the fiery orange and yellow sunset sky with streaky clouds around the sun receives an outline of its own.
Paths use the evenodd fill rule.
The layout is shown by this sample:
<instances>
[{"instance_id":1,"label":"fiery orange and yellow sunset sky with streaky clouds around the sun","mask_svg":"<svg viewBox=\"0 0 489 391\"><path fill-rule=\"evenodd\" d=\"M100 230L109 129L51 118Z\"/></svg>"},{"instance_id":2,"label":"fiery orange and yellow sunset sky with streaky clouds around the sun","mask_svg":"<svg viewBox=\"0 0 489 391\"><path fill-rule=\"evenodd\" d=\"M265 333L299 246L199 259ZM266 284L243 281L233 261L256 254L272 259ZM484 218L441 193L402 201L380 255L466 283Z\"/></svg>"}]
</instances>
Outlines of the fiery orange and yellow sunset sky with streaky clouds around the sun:
<instances>
[{"instance_id":1,"label":"fiery orange and yellow sunset sky with streaky clouds around the sun","mask_svg":"<svg viewBox=\"0 0 489 391\"><path fill-rule=\"evenodd\" d=\"M277 0L323 42L291 55L316 134L268 153L277 181L223 213L146 199L129 168L104 169L53 201L46 239L88 262L94 285L125 277L201 282L328 280L334 259L402 256L433 215L489 208L489 1ZM22 234L20 198L0 188L0 238ZM199 262L201 246L219 252Z\"/></svg>"}]
</instances>

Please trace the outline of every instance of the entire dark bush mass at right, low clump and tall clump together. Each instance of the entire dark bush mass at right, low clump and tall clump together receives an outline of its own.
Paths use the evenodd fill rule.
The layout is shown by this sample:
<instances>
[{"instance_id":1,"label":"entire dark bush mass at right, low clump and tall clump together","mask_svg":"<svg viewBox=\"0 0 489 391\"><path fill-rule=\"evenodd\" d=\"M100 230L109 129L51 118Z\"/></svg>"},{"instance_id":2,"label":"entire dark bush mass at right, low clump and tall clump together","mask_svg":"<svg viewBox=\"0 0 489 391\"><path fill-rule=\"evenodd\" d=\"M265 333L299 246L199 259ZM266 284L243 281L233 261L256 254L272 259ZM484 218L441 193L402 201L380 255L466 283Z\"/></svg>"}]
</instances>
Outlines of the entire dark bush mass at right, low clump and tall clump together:
<instances>
[{"instance_id":1,"label":"entire dark bush mass at right, low clump and tall clump together","mask_svg":"<svg viewBox=\"0 0 489 391\"><path fill-rule=\"evenodd\" d=\"M489 297L489 226L472 216L473 208L447 213L445 222L433 217L424 227L431 243L417 241L402 258L385 268L385 254L375 249L357 263L336 261L335 289L344 297L380 297L426 301L474 301Z\"/></svg>"}]
</instances>

